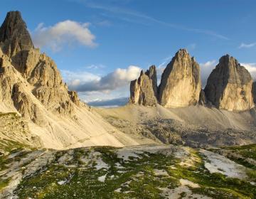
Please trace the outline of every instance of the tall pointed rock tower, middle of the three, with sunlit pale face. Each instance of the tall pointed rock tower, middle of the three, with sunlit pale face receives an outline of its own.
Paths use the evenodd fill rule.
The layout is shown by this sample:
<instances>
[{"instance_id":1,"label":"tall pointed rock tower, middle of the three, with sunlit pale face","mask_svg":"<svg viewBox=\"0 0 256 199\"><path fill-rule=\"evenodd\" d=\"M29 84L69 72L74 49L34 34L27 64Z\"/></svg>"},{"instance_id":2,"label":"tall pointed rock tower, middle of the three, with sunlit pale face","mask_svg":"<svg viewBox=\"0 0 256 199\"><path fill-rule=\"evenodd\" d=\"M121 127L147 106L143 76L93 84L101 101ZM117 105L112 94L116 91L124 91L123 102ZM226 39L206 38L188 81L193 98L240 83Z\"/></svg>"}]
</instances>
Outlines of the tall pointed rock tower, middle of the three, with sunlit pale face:
<instances>
[{"instance_id":1,"label":"tall pointed rock tower, middle of the three, with sunlit pale face","mask_svg":"<svg viewBox=\"0 0 256 199\"><path fill-rule=\"evenodd\" d=\"M184 49L178 50L161 76L159 102L164 107L198 104L201 92L200 68Z\"/></svg>"}]
</instances>

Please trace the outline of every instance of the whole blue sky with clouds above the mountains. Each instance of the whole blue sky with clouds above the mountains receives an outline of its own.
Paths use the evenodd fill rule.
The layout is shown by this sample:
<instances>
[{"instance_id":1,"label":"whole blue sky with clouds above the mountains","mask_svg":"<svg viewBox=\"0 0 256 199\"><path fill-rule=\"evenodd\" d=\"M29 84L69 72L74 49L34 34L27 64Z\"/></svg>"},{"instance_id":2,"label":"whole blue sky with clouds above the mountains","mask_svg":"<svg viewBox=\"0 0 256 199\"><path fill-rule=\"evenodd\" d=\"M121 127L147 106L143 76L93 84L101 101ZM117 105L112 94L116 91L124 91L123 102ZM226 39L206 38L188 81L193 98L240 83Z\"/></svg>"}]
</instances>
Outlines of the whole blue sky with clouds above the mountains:
<instances>
[{"instance_id":1,"label":"whole blue sky with clouds above the mountains","mask_svg":"<svg viewBox=\"0 0 256 199\"><path fill-rule=\"evenodd\" d=\"M1 0L0 20L14 10L69 89L94 105L125 102L150 65L160 81L181 48L200 64L203 85L225 54L256 78L255 0Z\"/></svg>"}]
</instances>

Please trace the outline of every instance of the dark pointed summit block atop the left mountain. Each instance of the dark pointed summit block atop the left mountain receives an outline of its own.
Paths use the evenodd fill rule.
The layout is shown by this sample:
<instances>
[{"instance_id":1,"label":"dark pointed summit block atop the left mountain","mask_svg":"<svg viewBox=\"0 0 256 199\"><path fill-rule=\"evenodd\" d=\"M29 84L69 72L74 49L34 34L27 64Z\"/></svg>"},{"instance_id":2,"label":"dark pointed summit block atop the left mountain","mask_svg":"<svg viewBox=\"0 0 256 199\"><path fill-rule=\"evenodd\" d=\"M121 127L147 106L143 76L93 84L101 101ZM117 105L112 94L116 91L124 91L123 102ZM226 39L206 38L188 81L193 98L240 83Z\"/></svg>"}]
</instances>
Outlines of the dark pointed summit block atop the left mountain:
<instances>
[{"instance_id":1,"label":"dark pointed summit block atop the left mountain","mask_svg":"<svg viewBox=\"0 0 256 199\"><path fill-rule=\"evenodd\" d=\"M19 11L10 11L0 28L0 45L3 52L13 57L22 50L31 50L33 42Z\"/></svg>"}]
</instances>

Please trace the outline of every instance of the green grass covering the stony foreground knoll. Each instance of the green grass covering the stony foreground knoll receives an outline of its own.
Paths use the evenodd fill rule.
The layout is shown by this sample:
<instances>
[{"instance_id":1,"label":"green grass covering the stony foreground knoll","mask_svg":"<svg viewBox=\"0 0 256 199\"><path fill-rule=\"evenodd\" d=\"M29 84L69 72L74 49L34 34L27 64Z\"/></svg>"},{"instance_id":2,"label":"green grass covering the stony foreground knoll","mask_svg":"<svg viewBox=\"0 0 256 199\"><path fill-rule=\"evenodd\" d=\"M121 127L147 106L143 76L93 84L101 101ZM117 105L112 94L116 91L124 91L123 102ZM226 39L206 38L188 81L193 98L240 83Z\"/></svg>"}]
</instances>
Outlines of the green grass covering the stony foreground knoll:
<instances>
[{"instance_id":1,"label":"green grass covering the stony foreground knoll","mask_svg":"<svg viewBox=\"0 0 256 199\"><path fill-rule=\"evenodd\" d=\"M130 158L124 162L112 147L75 149L73 159L65 165L58 159L67 151L58 151L55 160L35 175L23 178L16 189L19 198L164 198L161 188L174 189L180 186L181 178L198 183L200 188L190 188L193 193L212 198L255 198L256 187L237 178L226 178L220 173L210 174L203 164L203 156L191 151L198 160L193 166L180 166L174 156L145 153L142 158ZM97 163L81 161L92 151L101 153L108 169L96 171ZM123 168L117 168L119 163ZM175 167L171 168L171 167ZM154 169L164 170L169 176L159 176ZM105 182L98 181L105 176ZM252 174L254 175L254 173ZM59 185L60 181L68 181ZM115 190L121 190L120 192ZM185 195L186 193L182 193Z\"/></svg>"}]
</instances>

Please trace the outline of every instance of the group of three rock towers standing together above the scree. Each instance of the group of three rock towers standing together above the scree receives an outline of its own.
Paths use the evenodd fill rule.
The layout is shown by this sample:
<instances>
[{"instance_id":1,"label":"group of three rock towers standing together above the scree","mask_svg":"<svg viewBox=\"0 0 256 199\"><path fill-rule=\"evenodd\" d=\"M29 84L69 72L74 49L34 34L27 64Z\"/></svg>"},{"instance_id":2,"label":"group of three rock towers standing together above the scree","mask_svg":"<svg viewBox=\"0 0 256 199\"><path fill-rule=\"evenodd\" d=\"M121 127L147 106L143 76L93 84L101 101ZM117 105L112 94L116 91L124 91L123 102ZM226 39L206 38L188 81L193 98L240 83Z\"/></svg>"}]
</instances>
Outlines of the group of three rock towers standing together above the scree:
<instances>
[{"instance_id":1,"label":"group of three rock towers standing together above the scree","mask_svg":"<svg viewBox=\"0 0 256 199\"><path fill-rule=\"evenodd\" d=\"M178 50L156 85L156 67L151 66L130 85L132 104L164 107L187 107L195 104L213 104L218 109L243 111L254 107L252 77L238 60L230 55L220 58L208 77L203 90L200 67L184 49Z\"/></svg>"}]
</instances>

